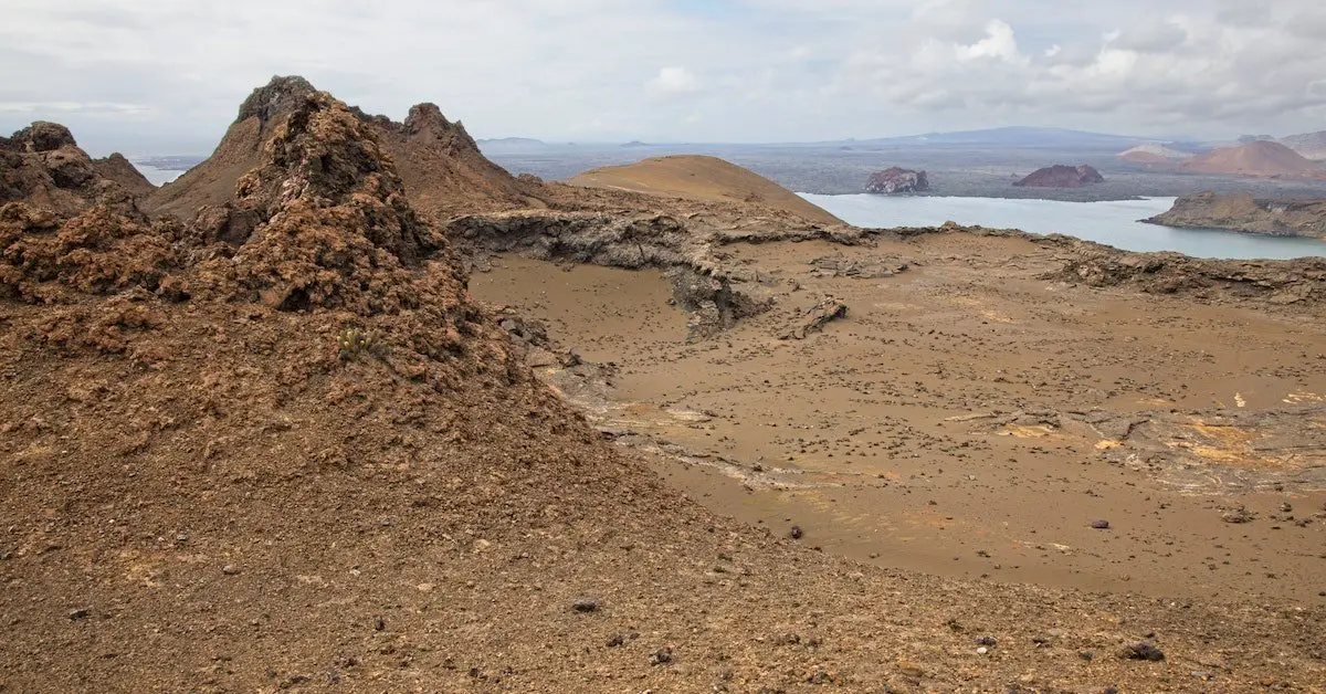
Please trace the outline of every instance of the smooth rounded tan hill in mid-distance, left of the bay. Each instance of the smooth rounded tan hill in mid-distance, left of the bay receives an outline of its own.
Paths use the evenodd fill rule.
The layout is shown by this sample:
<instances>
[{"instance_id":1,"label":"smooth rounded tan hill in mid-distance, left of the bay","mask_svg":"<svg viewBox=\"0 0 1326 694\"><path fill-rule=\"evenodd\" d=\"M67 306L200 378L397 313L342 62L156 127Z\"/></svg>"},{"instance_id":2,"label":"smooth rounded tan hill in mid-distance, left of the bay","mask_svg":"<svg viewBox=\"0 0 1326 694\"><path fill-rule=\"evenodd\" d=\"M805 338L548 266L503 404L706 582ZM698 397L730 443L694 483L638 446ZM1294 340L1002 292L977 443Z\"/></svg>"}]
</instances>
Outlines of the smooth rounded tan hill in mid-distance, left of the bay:
<instances>
[{"instance_id":1,"label":"smooth rounded tan hill in mid-distance, left of the bay","mask_svg":"<svg viewBox=\"0 0 1326 694\"><path fill-rule=\"evenodd\" d=\"M570 183L687 200L753 203L821 224L842 224L841 219L788 188L716 157L656 157L633 165L585 171L572 178Z\"/></svg>"}]
</instances>

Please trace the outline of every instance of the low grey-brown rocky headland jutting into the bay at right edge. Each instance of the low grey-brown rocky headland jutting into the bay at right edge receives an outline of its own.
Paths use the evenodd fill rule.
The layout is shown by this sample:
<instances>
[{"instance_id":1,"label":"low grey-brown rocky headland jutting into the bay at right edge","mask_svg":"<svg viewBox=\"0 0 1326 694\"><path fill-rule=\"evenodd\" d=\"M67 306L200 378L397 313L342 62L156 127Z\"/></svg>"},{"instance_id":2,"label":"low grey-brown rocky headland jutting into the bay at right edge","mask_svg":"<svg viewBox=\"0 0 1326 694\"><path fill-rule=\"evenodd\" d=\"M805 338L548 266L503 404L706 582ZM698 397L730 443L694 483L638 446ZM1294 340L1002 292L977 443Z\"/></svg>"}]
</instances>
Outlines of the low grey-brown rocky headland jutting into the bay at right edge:
<instances>
[{"instance_id":1,"label":"low grey-brown rocky headland jutting into the bay at right edge","mask_svg":"<svg viewBox=\"0 0 1326 694\"><path fill-rule=\"evenodd\" d=\"M1326 239L1326 199L1266 200L1256 199L1250 192L1196 192L1176 199L1168 212L1143 222L1166 227ZM1326 253L1326 248L1322 252Z\"/></svg>"}]
</instances>

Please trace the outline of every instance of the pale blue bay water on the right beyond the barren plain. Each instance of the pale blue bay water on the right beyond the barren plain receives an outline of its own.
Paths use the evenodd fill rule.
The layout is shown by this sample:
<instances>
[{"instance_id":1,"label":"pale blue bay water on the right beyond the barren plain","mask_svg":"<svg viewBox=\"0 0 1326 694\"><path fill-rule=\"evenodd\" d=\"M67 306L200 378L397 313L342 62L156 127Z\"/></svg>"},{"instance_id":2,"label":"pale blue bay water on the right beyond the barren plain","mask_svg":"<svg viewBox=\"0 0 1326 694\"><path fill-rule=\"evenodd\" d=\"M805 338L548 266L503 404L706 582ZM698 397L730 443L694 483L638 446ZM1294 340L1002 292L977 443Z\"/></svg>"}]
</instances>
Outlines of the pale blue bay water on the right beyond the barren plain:
<instances>
[{"instance_id":1,"label":"pale blue bay water on the right beyond the barren plain","mask_svg":"<svg viewBox=\"0 0 1326 694\"><path fill-rule=\"evenodd\" d=\"M931 227L944 222L1032 234L1063 234L1126 251L1177 251L1195 257L1289 259L1326 256L1326 240L1183 230L1139 219L1170 210L1174 198L1070 203L1004 198L814 195L802 198L858 227Z\"/></svg>"}]
</instances>

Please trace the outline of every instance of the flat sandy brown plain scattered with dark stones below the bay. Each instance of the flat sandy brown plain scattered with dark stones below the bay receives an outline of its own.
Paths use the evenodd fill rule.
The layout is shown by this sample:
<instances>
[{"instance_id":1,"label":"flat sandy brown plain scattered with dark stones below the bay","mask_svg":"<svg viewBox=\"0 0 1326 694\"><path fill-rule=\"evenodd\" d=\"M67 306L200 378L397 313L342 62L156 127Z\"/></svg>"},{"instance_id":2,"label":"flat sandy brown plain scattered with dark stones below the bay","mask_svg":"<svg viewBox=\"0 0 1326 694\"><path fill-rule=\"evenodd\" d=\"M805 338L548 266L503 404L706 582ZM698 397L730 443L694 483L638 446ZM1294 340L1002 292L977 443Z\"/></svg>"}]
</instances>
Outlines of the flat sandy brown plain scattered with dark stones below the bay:
<instances>
[{"instance_id":1,"label":"flat sandy brown plain scattered with dark stones below the bay","mask_svg":"<svg viewBox=\"0 0 1326 694\"><path fill-rule=\"evenodd\" d=\"M797 525L825 552L1326 604L1319 316L1041 280L1058 263L1024 239L725 251L780 287L780 304L690 344L659 272L504 256L471 288L614 362L597 387L544 372L672 484L778 535ZM825 276L834 263L810 264L825 256L908 269ZM846 320L778 338L826 296Z\"/></svg>"}]
</instances>

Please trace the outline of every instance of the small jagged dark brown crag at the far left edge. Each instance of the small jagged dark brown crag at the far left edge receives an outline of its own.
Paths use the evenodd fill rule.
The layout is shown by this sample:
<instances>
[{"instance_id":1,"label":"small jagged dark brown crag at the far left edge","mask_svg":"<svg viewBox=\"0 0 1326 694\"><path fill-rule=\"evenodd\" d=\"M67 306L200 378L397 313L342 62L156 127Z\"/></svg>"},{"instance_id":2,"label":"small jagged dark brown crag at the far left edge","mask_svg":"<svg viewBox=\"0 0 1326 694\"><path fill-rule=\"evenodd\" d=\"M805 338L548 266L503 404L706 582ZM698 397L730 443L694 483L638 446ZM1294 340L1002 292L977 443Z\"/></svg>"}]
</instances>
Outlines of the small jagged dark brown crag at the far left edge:
<instances>
[{"instance_id":1,"label":"small jagged dark brown crag at the far left edge","mask_svg":"<svg viewBox=\"0 0 1326 694\"><path fill-rule=\"evenodd\" d=\"M38 121L0 137L0 204L30 202L72 215L95 203L123 204L151 188L119 154L88 157L62 125Z\"/></svg>"}]
</instances>

